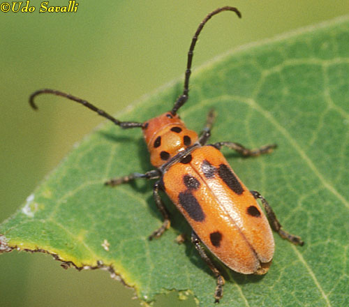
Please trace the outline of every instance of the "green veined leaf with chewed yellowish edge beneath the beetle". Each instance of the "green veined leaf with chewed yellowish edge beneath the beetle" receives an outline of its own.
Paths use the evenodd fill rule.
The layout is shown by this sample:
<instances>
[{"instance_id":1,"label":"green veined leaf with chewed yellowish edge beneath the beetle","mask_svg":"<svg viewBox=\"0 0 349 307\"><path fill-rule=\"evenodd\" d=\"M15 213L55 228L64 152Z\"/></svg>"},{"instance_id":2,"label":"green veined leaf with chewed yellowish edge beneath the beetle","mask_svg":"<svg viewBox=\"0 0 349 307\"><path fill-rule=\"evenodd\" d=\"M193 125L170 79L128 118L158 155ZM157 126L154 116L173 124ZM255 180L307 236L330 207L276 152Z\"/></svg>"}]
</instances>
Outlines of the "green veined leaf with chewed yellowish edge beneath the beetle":
<instances>
[{"instance_id":1,"label":"green veined leaf with chewed yellowish edge beneath the beetle","mask_svg":"<svg viewBox=\"0 0 349 307\"><path fill-rule=\"evenodd\" d=\"M227 280L220 306L346 306L348 18L242 48L195 71L182 119L200 131L213 107L218 117L211 142L277 143L274 153L258 158L223 151L246 186L267 198L285 229L306 242L292 246L276 235L265 276L236 274L218 264ZM170 84L118 117L144 121L170 110L181 87L182 81ZM135 287L142 301L188 290L200 306L214 306L211 272L188 240L174 242L178 234L190 234L174 206L165 200L170 230L148 241L161 225L151 183L103 185L110 177L150 170L146 150L138 129L107 123L96 130L0 225L0 252L37 250L79 269L108 269Z\"/></svg>"}]
</instances>

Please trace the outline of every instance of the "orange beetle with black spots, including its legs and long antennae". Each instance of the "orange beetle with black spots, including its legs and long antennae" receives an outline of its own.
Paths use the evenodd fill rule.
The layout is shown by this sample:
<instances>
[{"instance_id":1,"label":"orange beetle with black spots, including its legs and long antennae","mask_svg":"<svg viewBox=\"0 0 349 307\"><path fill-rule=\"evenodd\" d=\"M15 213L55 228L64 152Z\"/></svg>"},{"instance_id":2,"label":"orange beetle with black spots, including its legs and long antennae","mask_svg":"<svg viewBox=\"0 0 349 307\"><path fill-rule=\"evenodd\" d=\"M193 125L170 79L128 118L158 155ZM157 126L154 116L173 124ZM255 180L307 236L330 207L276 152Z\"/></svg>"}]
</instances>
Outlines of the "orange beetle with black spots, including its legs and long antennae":
<instances>
[{"instance_id":1,"label":"orange beetle with black spots, including its legs and long antennae","mask_svg":"<svg viewBox=\"0 0 349 307\"><path fill-rule=\"evenodd\" d=\"M177 98L172 110L154 119L144 123L119 121L86 100L53 89L41 89L29 97L29 103L34 109L37 109L34 98L42 93L50 93L81 103L121 128L142 128L151 164L156 169L145 174L135 172L111 179L105 184L117 186L138 178L158 179L154 184L153 195L163 216L163 224L149 236L149 240L161 237L170 227L168 210L159 195L159 190L163 190L188 220L193 229L191 241L216 277L214 297L217 303L223 297L225 280L214 266L207 250L234 271L261 275L267 273L274 255L274 238L270 226L293 244L304 244L302 239L283 230L267 200L260 193L244 186L220 151L225 146L244 157L259 156L270 153L276 148L276 144L259 149L247 149L235 142L206 145L211 135L214 112L209 112L206 125L199 136L195 131L186 128L177 115L179 108L188 100L193 50L198 36L212 16L225 10L241 17L237 8L224 6L212 11L202 20L188 51L184 91ZM269 223L257 200L262 202Z\"/></svg>"}]
</instances>

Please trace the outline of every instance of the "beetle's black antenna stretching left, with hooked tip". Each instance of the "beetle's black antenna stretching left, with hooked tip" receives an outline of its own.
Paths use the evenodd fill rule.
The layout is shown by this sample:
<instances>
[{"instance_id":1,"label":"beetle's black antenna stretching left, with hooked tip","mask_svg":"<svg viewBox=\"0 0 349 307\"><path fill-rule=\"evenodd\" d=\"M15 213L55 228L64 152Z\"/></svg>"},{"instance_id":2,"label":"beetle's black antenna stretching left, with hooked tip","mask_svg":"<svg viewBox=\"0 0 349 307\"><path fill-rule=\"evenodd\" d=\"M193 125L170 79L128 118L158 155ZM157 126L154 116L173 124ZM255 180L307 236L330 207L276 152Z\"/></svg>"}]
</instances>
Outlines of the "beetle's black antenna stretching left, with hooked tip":
<instances>
[{"instance_id":1,"label":"beetle's black antenna stretching left, with hooked tip","mask_svg":"<svg viewBox=\"0 0 349 307\"><path fill-rule=\"evenodd\" d=\"M137 127L142 128L142 126L143 126L142 123L137 123L137 122L133 122L133 121L119 121L118 119L115 119L110 114L107 114L107 112L104 112L103 110L98 109L98 107L95 107L94 105L87 102L86 100L77 98L73 95L70 95L69 93L63 93L62 91L56 91L54 89L40 89L38 91L34 91L34 93L31 94L31 96L29 97L29 104L31 105L31 107L34 110L38 110L38 107L34 103L34 98L36 98L36 96L38 96L38 95L41 95L42 93L51 93L53 95L68 98L69 100L73 100L77 103L81 103L85 107L88 107L90 110L98 113L98 115L101 115L101 117L105 117L106 119L109 119L110 121L115 123L115 125L120 126L121 128L137 128Z\"/></svg>"}]
</instances>

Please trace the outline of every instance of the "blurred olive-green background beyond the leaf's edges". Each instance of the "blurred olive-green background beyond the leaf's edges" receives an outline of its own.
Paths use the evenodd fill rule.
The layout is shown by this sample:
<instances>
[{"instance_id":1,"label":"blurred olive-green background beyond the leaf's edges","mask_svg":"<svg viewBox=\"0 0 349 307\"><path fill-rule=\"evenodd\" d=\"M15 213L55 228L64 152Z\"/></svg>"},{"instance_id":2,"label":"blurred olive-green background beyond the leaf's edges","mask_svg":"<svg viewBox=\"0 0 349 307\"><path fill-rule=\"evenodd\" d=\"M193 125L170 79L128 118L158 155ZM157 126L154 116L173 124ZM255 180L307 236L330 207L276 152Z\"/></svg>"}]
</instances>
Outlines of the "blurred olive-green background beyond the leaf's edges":
<instances>
[{"instance_id":1,"label":"blurred olive-green background beyond the leaf's edges","mask_svg":"<svg viewBox=\"0 0 349 307\"><path fill-rule=\"evenodd\" d=\"M67 3L50 1L53 6ZM103 121L59 98L41 100L34 112L27 103L32 91L60 89L115 114L183 77L191 37L218 6L237 6L243 18L223 13L209 22L195 50L194 71L239 45L349 13L349 1L329 0L77 3L77 13L40 14L40 1L34 0L34 13L0 12L0 220L24 202L75 142ZM51 256L38 253L0 256L3 307L140 306L131 297L133 290L104 271L65 271ZM178 304L172 293L154 306ZM195 306L193 297L181 306Z\"/></svg>"}]
</instances>

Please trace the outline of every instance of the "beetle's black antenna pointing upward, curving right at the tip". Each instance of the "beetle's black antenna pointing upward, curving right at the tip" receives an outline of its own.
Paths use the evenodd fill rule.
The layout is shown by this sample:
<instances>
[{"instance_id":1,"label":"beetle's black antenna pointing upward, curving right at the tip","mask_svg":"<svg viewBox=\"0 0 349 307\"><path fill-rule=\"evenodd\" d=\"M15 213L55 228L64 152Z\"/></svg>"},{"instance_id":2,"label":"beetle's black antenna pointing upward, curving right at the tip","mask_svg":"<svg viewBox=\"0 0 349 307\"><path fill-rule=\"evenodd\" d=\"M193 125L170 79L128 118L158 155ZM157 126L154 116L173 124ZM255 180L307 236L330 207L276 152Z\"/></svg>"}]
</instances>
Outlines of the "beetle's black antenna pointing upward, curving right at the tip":
<instances>
[{"instance_id":1,"label":"beetle's black antenna pointing upward, curving right at the tip","mask_svg":"<svg viewBox=\"0 0 349 307\"><path fill-rule=\"evenodd\" d=\"M184 90L181 96L179 96L179 98L177 99L176 103L174 103L174 107L171 111L172 114L176 114L179 108L182 105L184 105L184 103L186 103L186 100L188 100L189 77L191 76L191 62L193 61L194 47L202 28L205 26L206 22L208 22L209 19L211 19L212 16L221 13L225 10L231 10L232 12L235 12L239 18L241 18L241 13L239 12L239 10L237 10L237 8L233 8L232 6L223 6L223 8L217 8L213 12L209 13L209 15L207 15L205 19L202 20L202 22L199 24L199 27L196 30L193 39L191 40L191 47L189 47L188 51L188 61L186 62L186 73L184 79Z\"/></svg>"}]
</instances>

